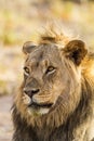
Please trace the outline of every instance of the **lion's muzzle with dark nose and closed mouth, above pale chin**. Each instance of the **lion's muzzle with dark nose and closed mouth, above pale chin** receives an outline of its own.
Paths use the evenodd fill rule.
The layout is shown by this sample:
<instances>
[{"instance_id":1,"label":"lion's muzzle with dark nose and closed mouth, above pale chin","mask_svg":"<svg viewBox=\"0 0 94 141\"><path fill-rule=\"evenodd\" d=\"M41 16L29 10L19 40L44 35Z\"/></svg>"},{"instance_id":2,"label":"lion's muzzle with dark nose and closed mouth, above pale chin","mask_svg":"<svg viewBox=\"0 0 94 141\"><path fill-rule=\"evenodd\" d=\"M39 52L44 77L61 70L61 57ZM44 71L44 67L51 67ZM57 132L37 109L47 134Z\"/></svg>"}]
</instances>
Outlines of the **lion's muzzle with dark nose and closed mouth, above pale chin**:
<instances>
[{"instance_id":1,"label":"lion's muzzle with dark nose and closed mouth, above pale chin","mask_svg":"<svg viewBox=\"0 0 94 141\"><path fill-rule=\"evenodd\" d=\"M28 107L32 108L50 108L53 105L53 103L50 101L51 94L41 95L39 94L39 89L27 90L26 88L24 88L25 104L27 104Z\"/></svg>"}]
</instances>

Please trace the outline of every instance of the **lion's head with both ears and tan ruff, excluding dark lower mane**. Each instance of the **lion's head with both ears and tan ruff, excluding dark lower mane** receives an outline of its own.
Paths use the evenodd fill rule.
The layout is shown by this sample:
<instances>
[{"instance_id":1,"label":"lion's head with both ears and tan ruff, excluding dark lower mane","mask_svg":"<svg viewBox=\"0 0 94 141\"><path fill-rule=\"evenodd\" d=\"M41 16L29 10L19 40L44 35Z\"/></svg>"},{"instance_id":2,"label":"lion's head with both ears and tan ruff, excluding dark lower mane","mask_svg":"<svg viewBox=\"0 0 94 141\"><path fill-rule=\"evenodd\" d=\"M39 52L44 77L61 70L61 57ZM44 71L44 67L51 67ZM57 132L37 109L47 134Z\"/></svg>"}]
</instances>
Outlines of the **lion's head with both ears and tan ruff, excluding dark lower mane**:
<instances>
[{"instance_id":1,"label":"lion's head with both ears and tan ruff, excluding dark lower mane","mask_svg":"<svg viewBox=\"0 0 94 141\"><path fill-rule=\"evenodd\" d=\"M17 108L30 124L53 120L58 126L80 101L84 42L69 40L59 48L55 37L46 36L39 44L26 42L23 51L26 61L22 92L16 97Z\"/></svg>"}]
</instances>

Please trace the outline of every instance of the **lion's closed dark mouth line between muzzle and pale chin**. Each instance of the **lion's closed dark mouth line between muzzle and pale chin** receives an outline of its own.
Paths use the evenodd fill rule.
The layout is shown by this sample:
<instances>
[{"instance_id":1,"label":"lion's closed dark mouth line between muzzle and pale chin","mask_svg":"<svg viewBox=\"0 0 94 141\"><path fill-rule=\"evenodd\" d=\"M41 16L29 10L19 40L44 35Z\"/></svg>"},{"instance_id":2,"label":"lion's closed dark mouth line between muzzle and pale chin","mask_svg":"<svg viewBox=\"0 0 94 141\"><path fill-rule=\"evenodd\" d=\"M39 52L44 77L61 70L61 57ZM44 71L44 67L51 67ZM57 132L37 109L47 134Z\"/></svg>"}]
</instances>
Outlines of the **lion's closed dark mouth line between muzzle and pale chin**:
<instances>
[{"instance_id":1,"label":"lion's closed dark mouth line between muzzle and pale chin","mask_svg":"<svg viewBox=\"0 0 94 141\"><path fill-rule=\"evenodd\" d=\"M35 108L44 107L44 108L50 108L52 105L53 105L53 103L42 103L42 104L39 104L39 103L31 102L28 105L28 107L35 107Z\"/></svg>"}]
</instances>

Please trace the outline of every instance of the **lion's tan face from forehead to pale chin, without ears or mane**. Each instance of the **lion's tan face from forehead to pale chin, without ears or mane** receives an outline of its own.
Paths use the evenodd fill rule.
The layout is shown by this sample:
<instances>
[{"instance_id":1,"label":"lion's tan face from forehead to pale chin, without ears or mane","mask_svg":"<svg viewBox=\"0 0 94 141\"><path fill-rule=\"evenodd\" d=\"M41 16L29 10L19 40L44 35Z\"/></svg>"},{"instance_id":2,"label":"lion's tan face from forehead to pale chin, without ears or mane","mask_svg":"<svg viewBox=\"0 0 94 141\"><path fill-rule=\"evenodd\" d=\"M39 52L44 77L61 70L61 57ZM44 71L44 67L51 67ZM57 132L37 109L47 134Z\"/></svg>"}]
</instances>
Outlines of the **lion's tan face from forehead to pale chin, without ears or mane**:
<instances>
[{"instance_id":1,"label":"lion's tan face from forehead to pale chin, without ears or mane","mask_svg":"<svg viewBox=\"0 0 94 141\"><path fill-rule=\"evenodd\" d=\"M40 46L28 55L24 75L25 103L42 114L54 106L68 82L59 52L51 46Z\"/></svg>"}]
</instances>

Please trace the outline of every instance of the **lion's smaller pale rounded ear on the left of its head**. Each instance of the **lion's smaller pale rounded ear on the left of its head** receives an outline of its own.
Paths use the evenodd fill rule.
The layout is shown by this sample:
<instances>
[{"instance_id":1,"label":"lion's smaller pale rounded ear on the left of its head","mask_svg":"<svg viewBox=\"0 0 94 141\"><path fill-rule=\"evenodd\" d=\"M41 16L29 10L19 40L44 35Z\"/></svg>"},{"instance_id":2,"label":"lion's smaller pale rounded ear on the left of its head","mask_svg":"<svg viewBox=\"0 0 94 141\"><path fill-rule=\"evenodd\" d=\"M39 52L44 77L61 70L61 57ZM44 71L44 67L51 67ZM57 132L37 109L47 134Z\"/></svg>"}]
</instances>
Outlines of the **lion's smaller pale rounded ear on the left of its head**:
<instances>
[{"instance_id":1,"label":"lion's smaller pale rounded ear on the left of its head","mask_svg":"<svg viewBox=\"0 0 94 141\"><path fill-rule=\"evenodd\" d=\"M29 54L36 47L37 47L37 46L36 46L33 42L27 41L27 42L25 42L24 46L23 46L23 52L24 52L25 54Z\"/></svg>"}]
</instances>

